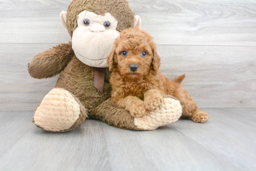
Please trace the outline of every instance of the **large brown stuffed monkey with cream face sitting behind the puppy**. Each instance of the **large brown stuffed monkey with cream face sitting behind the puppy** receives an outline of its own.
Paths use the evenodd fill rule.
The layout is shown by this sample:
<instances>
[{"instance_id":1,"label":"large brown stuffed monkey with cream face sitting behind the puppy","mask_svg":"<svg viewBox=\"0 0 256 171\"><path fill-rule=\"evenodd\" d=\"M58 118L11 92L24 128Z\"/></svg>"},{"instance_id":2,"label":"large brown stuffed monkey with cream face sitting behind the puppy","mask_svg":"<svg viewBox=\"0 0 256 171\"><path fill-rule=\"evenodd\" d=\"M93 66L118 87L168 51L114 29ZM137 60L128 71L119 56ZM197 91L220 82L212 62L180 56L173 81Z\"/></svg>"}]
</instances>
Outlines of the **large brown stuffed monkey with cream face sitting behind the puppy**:
<instances>
[{"instance_id":1,"label":"large brown stuffed monkey with cream face sitting behind the puppy","mask_svg":"<svg viewBox=\"0 0 256 171\"><path fill-rule=\"evenodd\" d=\"M110 104L107 56L120 31L140 27L126 0L73 0L60 18L72 41L37 54L28 71L42 79L60 74L56 86L36 107L33 122L55 132L75 129L85 119L100 119L113 126L153 130L179 119L182 108L172 96L143 117L134 118Z\"/></svg>"}]
</instances>

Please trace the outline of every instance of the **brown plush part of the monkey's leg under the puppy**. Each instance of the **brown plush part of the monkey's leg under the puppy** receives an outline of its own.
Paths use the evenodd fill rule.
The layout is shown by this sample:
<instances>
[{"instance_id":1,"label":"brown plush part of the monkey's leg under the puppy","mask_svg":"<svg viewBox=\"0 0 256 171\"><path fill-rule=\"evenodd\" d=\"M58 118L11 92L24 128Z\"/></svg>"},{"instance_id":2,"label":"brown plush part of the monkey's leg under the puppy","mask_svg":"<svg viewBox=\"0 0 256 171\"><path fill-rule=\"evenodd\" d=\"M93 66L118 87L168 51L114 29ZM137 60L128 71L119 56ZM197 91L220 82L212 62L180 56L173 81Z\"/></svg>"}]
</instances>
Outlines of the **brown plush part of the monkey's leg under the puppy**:
<instances>
[{"instance_id":1,"label":"brown plush part of the monkey's leg under the puppy","mask_svg":"<svg viewBox=\"0 0 256 171\"><path fill-rule=\"evenodd\" d=\"M124 108L114 107L110 104L110 101L111 98L95 108L93 113L97 119L100 119L115 127L140 130L133 124L134 117L132 117L128 111L126 111Z\"/></svg>"}]
</instances>

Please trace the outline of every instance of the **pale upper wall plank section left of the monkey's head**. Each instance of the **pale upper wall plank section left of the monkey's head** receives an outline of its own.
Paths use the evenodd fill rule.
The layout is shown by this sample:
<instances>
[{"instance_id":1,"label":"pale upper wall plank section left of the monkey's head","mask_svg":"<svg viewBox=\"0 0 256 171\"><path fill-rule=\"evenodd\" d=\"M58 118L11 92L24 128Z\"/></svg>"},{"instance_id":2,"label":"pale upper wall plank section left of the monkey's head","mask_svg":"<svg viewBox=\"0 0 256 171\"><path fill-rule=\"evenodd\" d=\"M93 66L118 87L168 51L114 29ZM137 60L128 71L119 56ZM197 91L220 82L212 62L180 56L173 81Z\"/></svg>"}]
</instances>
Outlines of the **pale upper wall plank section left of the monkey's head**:
<instances>
[{"instance_id":1,"label":"pale upper wall plank section left of the monkey's head","mask_svg":"<svg viewBox=\"0 0 256 171\"><path fill-rule=\"evenodd\" d=\"M66 43L59 15L71 0L0 0L0 43Z\"/></svg>"}]
</instances>

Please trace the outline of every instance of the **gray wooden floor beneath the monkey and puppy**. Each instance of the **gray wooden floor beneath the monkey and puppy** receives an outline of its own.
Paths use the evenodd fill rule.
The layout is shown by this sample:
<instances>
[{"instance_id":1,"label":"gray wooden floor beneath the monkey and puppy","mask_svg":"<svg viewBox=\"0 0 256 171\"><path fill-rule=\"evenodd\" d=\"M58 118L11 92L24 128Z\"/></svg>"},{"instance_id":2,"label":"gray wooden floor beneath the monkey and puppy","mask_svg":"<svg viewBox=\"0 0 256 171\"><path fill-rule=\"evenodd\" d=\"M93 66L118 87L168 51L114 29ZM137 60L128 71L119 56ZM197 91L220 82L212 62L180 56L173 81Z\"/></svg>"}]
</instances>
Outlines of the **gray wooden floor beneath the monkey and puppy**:
<instances>
[{"instance_id":1,"label":"gray wooden floor beneath the monkey and puppy","mask_svg":"<svg viewBox=\"0 0 256 171\"><path fill-rule=\"evenodd\" d=\"M86 120L71 132L37 128L33 111L0 112L0 170L256 170L256 108L204 109L154 131Z\"/></svg>"}]
</instances>

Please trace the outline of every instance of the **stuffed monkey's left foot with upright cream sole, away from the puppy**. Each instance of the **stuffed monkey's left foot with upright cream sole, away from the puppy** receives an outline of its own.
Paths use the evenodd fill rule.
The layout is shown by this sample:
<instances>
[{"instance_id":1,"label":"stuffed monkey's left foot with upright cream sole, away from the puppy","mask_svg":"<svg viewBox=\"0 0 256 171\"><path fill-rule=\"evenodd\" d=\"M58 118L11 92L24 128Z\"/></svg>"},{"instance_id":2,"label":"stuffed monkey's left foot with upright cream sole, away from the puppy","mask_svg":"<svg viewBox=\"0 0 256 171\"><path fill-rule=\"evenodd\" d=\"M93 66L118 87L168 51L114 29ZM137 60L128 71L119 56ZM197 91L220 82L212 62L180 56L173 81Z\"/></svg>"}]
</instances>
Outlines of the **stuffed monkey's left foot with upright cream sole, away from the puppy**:
<instances>
[{"instance_id":1,"label":"stuffed monkey's left foot with upright cream sole, away from the puppy","mask_svg":"<svg viewBox=\"0 0 256 171\"><path fill-rule=\"evenodd\" d=\"M77 97L65 89L52 89L36 107L33 122L37 127L54 132L75 129L85 121L87 111Z\"/></svg>"}]
</instances>

